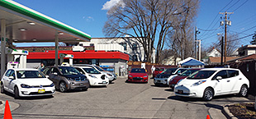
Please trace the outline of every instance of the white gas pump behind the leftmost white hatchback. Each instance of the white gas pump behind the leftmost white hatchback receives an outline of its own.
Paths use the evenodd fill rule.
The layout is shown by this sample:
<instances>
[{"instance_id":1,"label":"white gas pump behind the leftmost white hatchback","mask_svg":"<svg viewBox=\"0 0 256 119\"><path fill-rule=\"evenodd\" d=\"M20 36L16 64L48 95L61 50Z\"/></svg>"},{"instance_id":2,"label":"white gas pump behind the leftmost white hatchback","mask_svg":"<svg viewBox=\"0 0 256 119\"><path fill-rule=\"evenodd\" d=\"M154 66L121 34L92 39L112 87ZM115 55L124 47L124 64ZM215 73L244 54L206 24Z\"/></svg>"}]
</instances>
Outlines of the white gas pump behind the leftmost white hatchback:
<instances>
[{"instance_id":1,"label":"white gas pump behind the leftmost white hatchback","mask_svg":"<svg viewBox=\"0 0 256 119\"><path fill-rule=\"evenodd\" d=\"M26 68L26 56L28 51L14 48L6 48L7 69L8 68Z\"/></svg>"}]
</instances>

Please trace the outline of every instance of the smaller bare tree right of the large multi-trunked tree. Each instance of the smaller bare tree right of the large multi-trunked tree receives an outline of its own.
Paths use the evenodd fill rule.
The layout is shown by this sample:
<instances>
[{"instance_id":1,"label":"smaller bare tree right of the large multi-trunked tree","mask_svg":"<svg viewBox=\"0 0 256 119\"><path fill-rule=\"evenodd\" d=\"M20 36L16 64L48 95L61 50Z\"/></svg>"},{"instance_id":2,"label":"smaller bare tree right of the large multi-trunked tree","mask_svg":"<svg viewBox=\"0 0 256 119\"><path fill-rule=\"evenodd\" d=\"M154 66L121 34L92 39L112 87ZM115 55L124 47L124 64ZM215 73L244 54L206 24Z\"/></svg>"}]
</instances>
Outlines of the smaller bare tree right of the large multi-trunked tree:
<instances>
[{"instance_id":1,"label":"smaller bare tree right of the large multi-trunked tree","mask_svg":"<svg viewBox=\"0 0 256 119\"><path fill-rule=\"evenodd\" d=\"M175 52L174 58L191 57L194 53L194 19L197 16L199 1L183 1L183 9L186 12L179 14L173 21L173 31L168 34L167 45ZM173 59L173 60L175 60Z\"/></svg>"}]
</instances>

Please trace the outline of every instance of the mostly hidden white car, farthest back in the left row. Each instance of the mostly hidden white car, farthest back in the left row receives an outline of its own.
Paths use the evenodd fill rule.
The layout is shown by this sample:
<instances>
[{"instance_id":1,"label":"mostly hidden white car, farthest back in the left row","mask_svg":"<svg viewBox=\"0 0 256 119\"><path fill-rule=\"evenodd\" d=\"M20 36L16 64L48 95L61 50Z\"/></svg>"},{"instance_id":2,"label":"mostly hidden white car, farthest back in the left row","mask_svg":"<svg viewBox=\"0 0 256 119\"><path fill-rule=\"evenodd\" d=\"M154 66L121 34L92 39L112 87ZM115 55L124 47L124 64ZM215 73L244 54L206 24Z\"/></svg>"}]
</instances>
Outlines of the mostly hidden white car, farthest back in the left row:
<instances>
[{"instance_id":1,"label":"mostly hidden white car, farthest back in the left row","mask_svg":"<svg viewBox=\"0 0 256 119\"><path fill-rule=\"evenodd\" d=\"M100 66L94 66L94 65L89 65L89 64L74 64L73 66L91 66L92 68L94 68L97 71L101 72L102 74L106 75L110 83L117 79L117 76L115 74L112 74L109 71L105 71Z\"/></svg>"}]
</instances>

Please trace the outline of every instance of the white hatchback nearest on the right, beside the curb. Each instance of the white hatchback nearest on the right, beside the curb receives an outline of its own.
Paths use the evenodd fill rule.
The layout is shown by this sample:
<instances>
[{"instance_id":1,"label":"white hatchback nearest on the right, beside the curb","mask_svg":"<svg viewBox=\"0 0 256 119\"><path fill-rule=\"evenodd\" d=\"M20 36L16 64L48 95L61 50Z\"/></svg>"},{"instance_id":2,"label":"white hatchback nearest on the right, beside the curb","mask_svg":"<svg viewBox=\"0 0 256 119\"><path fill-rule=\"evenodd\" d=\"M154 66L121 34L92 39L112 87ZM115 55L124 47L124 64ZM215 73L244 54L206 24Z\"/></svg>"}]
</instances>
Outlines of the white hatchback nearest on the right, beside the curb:
<instances>
[{"instance_id":1,"label":"white hatchback nearest on the right, beside the curb","mask_svg":"<svg viewBox=\"0 0 256 119\"><path fill-rule=\"evenodd\" d=\"M223 94L239 94L245 97L248 89L249 80L238 69L207 68L179 80L174 92L178 96L210 101L214 96Z\"/></svg>"}]
</instances>

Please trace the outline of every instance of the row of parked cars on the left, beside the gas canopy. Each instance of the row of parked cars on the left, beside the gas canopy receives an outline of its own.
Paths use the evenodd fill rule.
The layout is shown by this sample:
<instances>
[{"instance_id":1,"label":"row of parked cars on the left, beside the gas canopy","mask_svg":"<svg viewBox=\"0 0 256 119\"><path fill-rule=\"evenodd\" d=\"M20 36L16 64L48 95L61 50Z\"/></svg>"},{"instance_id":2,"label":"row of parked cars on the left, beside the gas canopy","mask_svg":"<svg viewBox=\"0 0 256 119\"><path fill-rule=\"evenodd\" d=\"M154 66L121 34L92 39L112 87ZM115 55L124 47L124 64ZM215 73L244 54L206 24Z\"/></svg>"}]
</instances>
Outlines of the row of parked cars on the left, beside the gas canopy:
<instances>
[{"instance_id":1,"label":"row of parked cars on the left, beside the gas canopy","mask_svg":"<svg viewBox=\"0 0 256 119\"><path fill-rule=\"evenodd\" d=\"M1 93L12 93L15 98L53 95L55 89L88 90L90 86L107 86L113 80L116 75L92 65L46 66L42 72L30 68L7 69L2 76Z\"/></svg>"}]
</instances>

